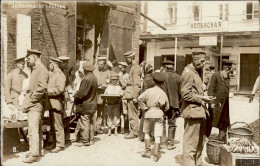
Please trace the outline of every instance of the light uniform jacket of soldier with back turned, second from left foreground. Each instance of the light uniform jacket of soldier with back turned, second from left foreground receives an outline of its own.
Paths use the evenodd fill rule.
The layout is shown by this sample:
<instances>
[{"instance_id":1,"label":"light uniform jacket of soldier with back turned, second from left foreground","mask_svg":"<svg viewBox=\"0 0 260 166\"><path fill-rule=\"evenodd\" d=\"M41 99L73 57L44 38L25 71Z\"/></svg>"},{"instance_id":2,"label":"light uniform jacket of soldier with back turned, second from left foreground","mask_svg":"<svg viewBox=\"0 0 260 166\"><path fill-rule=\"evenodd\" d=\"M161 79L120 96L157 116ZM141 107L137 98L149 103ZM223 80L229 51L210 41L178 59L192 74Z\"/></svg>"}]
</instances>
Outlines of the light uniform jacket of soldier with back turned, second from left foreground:
<instances>
[{"instance_id":1,"label":"light uniform jacket of soldier with back turned, second from left foreground","mask_svg":"<svg viewBox=\"0 0 260 166\"><path fill-rule=\"evenodd\" d=\"M60 69L49 73L47 92L52 109L63 110L65 84L66 76Z\"/></svg>"}]
</instances>

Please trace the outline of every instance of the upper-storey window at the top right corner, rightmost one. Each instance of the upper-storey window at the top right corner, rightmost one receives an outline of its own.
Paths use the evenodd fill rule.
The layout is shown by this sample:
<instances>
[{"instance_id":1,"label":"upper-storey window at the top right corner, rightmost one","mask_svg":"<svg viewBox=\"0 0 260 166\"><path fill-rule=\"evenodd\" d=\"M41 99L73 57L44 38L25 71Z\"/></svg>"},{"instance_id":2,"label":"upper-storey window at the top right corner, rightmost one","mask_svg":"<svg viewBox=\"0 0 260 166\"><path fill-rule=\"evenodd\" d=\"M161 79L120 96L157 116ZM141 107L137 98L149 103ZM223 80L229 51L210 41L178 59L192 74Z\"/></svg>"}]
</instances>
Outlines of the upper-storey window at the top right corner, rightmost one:
<instances>
[{"instance_id":1,"label":"upper-storey window at the top right corner, rightmost one","mask_svg":"<svg viewBox=\"0 0 260 166\"><path fill-rule=\"evenodd\" d=\"M259 2L247 2L246 18L248 20L259 18Z\"/></svg>"}]
</instances>

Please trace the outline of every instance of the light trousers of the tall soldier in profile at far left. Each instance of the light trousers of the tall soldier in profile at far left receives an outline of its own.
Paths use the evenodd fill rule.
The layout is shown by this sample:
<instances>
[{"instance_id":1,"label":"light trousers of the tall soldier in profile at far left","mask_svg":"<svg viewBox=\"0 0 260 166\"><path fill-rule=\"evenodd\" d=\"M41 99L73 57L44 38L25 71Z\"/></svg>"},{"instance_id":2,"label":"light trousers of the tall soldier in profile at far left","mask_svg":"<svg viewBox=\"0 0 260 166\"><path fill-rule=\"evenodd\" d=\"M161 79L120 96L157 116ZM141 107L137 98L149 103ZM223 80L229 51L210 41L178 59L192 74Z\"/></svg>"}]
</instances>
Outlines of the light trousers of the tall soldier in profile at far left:
<instances>
[{"instance_id":1,"label":"light trousers of the tall soldier in profile at far left","mask_svg":"<svg viewBox=\"0 0 260 166\"><path fill-rule=\"evenodd\" d=\"M42 112L28 112L29 153L34 157L43 155L42 119Z\"/></svg>"}]
</instances>

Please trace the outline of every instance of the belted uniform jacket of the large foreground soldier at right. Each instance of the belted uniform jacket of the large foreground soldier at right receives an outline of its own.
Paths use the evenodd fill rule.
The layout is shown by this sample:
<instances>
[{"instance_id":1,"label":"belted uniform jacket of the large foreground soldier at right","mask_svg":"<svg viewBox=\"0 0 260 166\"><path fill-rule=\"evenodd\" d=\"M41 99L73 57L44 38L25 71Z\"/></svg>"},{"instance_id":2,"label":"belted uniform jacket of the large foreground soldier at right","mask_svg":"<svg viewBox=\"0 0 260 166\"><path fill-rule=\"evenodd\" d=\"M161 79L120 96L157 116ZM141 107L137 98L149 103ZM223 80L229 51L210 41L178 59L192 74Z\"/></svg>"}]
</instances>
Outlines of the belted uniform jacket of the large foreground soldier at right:
<instances>
[{"instance_id":1,"label":"belted uniform jacket of the large foreground soldier at right","mask_svg":"<svg viewBox=\"0 0 260 166\"><path fill-rule=\"evenodd\" d=\"M203 83L195 67L188 65L181 75L182 117L195 119L206 118L201 97Z\"/></svg>"}]
</instances>

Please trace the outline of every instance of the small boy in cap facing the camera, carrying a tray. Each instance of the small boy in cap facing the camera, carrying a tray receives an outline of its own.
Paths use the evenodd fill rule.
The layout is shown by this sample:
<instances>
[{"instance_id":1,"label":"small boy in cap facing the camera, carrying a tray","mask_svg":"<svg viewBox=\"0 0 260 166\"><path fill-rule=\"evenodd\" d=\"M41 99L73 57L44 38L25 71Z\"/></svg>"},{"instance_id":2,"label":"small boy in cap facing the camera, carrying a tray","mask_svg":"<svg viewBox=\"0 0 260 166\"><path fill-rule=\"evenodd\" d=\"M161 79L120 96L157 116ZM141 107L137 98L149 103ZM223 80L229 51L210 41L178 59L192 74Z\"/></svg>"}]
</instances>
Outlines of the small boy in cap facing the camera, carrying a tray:
<instances>
[{"instance_id":1,"label":"small boy in cap facing the camera, carrying a tray","mask_svg":"<svg viewBox=\"0 0 260 166\"><path fill-rule=\"evenodd\" d=\"M120 123L120 102L121 99L118 96L123 95L122 88L118 85L118 74L113 74L110 77L110 84L107 86L105 93L108 95L117 95L116 98L107 98L106 100L106 114L108 135L111 135L111 129L115 129L114 134L117 136L117 127Z\"/></svg>"}]
</instances>

